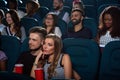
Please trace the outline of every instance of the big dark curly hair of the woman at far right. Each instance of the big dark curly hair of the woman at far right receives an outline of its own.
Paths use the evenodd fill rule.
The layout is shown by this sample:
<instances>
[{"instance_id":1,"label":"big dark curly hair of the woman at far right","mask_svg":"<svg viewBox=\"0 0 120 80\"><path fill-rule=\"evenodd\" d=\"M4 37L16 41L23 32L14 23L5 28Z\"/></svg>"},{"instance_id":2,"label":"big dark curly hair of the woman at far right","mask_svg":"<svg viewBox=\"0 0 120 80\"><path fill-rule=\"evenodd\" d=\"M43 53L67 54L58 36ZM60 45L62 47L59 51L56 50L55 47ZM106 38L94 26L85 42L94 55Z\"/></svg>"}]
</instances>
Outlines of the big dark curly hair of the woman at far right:
<instances>
[{"instance_id":1,"label":"big dark curly hair of the woman at far right","mask_svg":"<svg viewBox=\"0 0 120 80\"><path fill-rule=\"evenodd\" d=\"M101 29L99 31L99 37L105 35L108 30L104 22L105 14L109 14L112 17L111 37L120 37L120 8L117 6L108 6L100 14L99 26L101 26Z\"/></svg>"}]
</instances>

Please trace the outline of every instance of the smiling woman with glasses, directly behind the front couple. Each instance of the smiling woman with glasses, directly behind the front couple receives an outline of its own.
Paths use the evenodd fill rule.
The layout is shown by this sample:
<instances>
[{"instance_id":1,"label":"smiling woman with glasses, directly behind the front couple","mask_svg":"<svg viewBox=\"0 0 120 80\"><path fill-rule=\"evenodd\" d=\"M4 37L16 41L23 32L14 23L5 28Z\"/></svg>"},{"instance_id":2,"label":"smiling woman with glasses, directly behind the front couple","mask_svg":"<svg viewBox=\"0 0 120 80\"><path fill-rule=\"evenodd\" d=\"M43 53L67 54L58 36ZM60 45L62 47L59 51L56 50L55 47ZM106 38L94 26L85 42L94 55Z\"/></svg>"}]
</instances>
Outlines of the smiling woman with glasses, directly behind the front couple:
<instances>
[{"instance_id":1,"label":"smiling woman with glasses, directly behind the front couple","mask_svg":"<svg viewBox=\"0 0 120 80\"><path fill-rule=\"evenodd\" d=\"M46 28L47 33L54 33L57 36L61 37L62 33L59 27L57 27L57 15L54 13L50 12L45 16L44 22L43 22L43 27Z\"/></svg>"}]
</instances>

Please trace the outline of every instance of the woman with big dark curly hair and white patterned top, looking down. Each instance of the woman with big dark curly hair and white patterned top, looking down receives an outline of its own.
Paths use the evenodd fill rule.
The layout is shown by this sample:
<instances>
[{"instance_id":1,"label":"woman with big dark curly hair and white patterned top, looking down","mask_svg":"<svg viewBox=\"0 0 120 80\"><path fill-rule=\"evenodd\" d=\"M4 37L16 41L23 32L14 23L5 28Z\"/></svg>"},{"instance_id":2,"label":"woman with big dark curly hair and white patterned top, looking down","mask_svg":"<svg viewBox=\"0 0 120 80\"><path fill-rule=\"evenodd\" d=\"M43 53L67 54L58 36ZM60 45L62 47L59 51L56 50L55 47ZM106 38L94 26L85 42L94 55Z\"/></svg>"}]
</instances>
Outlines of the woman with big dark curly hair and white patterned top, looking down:
<instances>
[{"instance_id":1,"label":"woman with big dark curly hair and white patterned top, looking down","mask_svg":"<svg viewBox=\"0 0 120 80\"><path fill-rule=\"evenodd\" d=\"M97 42L101 47L114 40L120 40L120 8L106 7L100 15Z\"/></svg>"}]
</instances>

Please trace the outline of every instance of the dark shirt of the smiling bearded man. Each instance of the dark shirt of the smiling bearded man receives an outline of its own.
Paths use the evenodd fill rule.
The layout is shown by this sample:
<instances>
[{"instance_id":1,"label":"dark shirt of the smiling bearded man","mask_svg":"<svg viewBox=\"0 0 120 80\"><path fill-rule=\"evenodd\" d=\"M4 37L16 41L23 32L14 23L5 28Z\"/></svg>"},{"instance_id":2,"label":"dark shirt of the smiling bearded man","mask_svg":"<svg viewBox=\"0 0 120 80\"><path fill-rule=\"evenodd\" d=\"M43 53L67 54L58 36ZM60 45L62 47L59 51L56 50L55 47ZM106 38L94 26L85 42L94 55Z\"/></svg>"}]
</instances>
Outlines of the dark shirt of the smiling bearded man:
<instances>
[{"instance_id":1,"label":"dark shirt of the smiling bearded man","mask_svg":"<svg viewBox=\"0 0 120 80\"><path fill-rule=\"evenodd\" d=\"M67 38L85 38L91 39L92 32L90 29L83 27L81 30L75 32L73 28L69 29Z\"/></svg>"}]
</instances>

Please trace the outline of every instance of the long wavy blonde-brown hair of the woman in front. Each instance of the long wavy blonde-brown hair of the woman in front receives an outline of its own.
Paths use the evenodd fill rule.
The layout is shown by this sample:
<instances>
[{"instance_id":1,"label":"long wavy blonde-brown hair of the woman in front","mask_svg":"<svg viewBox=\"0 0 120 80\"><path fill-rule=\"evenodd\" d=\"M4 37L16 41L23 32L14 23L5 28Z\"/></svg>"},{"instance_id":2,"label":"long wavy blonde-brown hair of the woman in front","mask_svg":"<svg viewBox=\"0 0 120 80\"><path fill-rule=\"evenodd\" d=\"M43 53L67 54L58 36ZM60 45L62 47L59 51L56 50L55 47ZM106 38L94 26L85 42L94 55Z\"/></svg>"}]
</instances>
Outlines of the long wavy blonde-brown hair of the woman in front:
<instances>
[{"instance_id":1,"label":"long wavy blonde-brown hair of the woman in front","mask_svg":"<svg viewBox=\"0 0 120 80\"><path fill-rule=\"evenodd\" d=\"M61 50L62 50L63 45L62 45L61 38L59 38L55 34L48 34L45 39L47 39L47 38L53 39L53 41L54 41L54 48L55 48L54 49L53 61L51 62L50 66L47 69L48 79L51 79L56 74L55 68L57 67L58 60L60 58L60 54L61 54ZM42 61L42 65L45 64L45 62L47 61L47 59L48 58L44 59L43 60L44 62Z\"/></svg>"}]
</instances>

